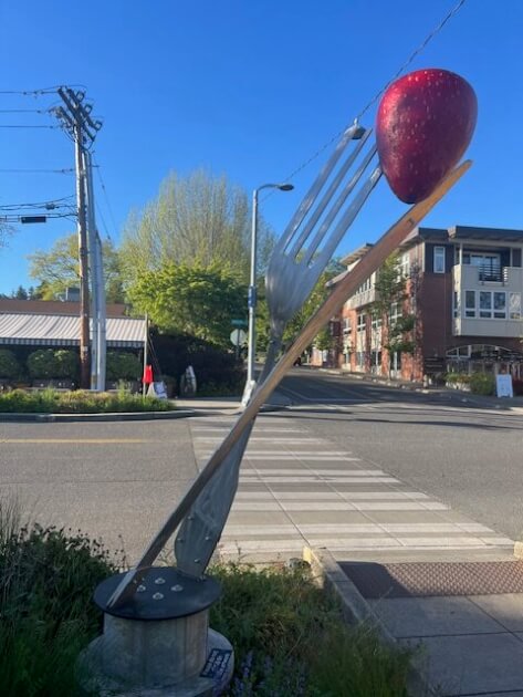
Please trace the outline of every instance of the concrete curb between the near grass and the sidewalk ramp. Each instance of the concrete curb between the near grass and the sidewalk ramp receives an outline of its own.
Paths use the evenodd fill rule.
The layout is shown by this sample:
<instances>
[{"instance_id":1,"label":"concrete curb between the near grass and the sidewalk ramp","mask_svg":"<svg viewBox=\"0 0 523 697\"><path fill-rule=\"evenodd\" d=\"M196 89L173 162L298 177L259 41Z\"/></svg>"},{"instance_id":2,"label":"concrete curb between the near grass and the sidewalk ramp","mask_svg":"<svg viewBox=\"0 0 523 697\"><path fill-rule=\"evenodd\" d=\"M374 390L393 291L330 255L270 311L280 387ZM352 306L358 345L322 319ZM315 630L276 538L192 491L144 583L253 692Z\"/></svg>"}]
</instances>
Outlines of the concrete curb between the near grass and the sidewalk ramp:
<instances>
[{"instance_id":1,"label":"concrete curb between the near grass and the sidewalk ramp","mask_svg":"<svg viewBox=\"0 0 523 697\"><path fill-rule=\"evenodd\" d=\"M339 564L326 548L313 549L304 547L303 560L310 564L315 582L322 589L332 591L339 599L343 616L348 624L367 624L378 633L379 637L388 646L398 646L396 638L373 612L370 605L351 579L342 571ZM412 664L410 664L410 670L407 676L407 688L409 695L436 697L436 695L440 694Z\"/></svg>"}]
</instances>

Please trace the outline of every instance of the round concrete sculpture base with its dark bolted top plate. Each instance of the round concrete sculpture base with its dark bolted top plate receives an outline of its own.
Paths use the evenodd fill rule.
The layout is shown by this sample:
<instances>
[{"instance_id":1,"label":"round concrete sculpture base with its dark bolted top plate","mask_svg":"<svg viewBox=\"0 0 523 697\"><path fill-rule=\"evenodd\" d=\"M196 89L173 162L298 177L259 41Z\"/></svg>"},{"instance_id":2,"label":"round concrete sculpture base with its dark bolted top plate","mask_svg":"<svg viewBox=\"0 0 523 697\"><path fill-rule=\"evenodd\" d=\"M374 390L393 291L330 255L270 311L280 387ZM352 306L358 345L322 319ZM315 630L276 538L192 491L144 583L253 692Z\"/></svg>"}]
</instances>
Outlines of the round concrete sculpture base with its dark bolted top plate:
<instances>
[{"instance_id":1,"label":"round concrete sculpture base with its dark bolted top plate","mask_svg":"<svg viewBox=\"0 0 523 697\"><path fill-rule=\"evenodd\" d=\"M94 593L104 633L79 660L80 680L100 695L196 697L219 694L232 675L232 646L209 630L209 606L220 585L172 568L151 568L125 605L107 605L123 574Z\"/></svg>"}]
</instances>

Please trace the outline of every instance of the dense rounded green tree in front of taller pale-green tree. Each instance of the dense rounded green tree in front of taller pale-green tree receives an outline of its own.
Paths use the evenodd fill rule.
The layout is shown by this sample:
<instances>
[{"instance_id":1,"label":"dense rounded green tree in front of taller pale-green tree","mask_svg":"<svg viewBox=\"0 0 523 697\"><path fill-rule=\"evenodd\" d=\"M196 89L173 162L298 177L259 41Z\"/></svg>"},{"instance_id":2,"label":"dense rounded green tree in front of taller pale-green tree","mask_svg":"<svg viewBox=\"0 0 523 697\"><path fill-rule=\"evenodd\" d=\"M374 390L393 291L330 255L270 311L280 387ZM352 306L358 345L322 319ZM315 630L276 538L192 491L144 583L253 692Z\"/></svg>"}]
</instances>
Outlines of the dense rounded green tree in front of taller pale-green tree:
<instances>
[{"instance_id":1,"label":"dense rounded green tree in front of taller pale-green tree","mask_svg":"<svg viewBox=\"0 0 523 697\"><path fill-rule=\"evenodd\" d=\"M231 320L247 313L247 288L215 264L165 263L142 272L129 288L135 312L147 313L164 332L181 332L230 347Z\"/></svg>"}]
</instances>

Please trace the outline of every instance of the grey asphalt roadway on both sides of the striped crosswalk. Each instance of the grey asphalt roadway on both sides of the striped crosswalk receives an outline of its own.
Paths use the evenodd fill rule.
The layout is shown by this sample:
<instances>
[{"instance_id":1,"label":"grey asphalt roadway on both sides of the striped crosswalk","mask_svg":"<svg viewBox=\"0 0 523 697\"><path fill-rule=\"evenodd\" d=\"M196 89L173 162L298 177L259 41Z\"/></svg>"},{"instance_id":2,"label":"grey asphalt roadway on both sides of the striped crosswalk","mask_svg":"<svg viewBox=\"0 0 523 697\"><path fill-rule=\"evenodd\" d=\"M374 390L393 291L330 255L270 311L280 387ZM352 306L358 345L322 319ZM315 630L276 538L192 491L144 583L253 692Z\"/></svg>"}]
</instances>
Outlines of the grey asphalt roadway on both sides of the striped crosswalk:
<instances>
[{"instance_id":1,"label":"grey asphalt roadway on both sides of the striped crosswalk","mask_svg":"<svg viewBox=\"0 0 523 697\"><path fill-rule=\"evenodd\" d=\"M317 436L324 444L317 447L349 450L363 467L375 466L407 488L522 539L523 409L480 408L458 395L390 389L306 368L292 371L282 389L295 405L262 419L254 450L270 448L280 415L285 422L280 430L289 434L274 433L274 438L292 436L293 428L311 443ZM211 420L0 423L0 496L17 496L25 514L43 524L80 529L102 538L108 549L123 544L136 561L197 472L195 439L208 449L228 427ZM282 467L270 461L274 452L263 462L263 452L253 460L257 467ZM245 492L261 486L249 483L249 477L245 470ZM279 485L293 491L296 486ZM318 485L300 487L317 490ZM303 513L318 526L330 522L323 516ZM401 522L407 518L402 514Z\"/></svg>"}]
</instances>

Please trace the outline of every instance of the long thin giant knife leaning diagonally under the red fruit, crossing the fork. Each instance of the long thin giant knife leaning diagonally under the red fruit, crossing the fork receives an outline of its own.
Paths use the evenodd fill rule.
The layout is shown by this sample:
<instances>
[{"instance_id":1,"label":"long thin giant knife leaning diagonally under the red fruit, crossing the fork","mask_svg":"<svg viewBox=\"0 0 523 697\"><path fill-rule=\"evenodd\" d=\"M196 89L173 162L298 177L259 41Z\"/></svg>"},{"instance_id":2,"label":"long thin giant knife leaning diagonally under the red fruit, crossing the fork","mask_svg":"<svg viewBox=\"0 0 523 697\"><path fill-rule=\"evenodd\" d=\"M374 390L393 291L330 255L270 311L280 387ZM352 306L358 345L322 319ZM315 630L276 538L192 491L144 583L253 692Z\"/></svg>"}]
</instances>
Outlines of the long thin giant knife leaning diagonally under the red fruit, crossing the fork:
<instances>
[{"instance_id":1,"label":"long thin giant knife leaning diagonally under the red fruit, crossing the fork","mask_svg":"<svg viewBox=\"0 0 523 697\"><path fill-rule=\"evenodd\" d=\"M127 602L132 602L136 587L147 573L147 570L153 565L156 558L184 518L188 514L208 482L220 471L220 467L227 461L234 446L241 441L245 430L251 428L260 407L278 386L286 371L292 366L294 360L301 355L330 318L342 308L345 300L354 294L356 289L379 268L385 259L394 252L398 245L447 194L458 179L460 179L470 166L470 160L464 162L451 171L428 198L412 206L367 252L357 267L334 287L332 293L311 318L289 351L280 358L275 367L268 374L266 378L259 384L244 412L240 415L222 444L209 458L207 465L189 487L177 508L151 540L136 566L128 571L118 584L107 602L108 608L116 608Z\"/></svg>"}]
</instances>

